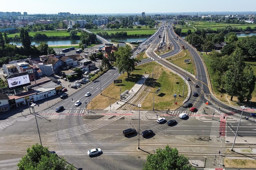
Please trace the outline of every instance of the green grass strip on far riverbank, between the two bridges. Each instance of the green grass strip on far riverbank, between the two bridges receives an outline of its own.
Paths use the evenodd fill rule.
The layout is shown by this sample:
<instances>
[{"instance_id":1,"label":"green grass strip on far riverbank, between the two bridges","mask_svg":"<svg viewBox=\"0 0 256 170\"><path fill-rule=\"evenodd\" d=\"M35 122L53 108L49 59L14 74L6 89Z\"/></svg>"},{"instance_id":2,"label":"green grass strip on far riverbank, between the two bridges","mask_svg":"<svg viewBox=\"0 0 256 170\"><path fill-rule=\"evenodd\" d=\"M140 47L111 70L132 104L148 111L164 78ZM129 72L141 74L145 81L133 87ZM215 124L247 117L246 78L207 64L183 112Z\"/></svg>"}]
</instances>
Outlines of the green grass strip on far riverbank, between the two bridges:
<instances>
[{"instance_id":1,"label":"green grass strip on far riverbank, between the two bridges","mask_svg":"<svg viewBox=\"0 0 256 170\"><path fill-rule=\"evenodd\" d=\"M121 32L121 31L125 31L127 32L127 35L134 35L134 34L154 34L156 32L157 28L146 28L146 29L113 29L113 30L88 30L88 31L91 31L93 33L97 33L97 32L107 32L109 35L111 33L115 33L115 32Z\"/></svg>"}]
</instances>

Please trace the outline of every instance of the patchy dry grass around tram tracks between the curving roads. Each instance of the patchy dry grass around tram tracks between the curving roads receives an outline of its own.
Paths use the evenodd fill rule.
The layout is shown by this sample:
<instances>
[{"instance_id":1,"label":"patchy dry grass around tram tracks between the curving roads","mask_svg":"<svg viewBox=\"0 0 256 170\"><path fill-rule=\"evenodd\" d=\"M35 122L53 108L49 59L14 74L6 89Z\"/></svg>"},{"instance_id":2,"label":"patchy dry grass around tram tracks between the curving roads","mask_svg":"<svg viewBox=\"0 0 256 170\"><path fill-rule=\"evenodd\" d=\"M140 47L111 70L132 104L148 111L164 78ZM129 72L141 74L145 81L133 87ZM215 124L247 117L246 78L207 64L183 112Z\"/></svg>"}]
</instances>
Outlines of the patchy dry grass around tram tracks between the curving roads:
<instances>
[{"instance_id":1,"label":"patchy dry grass around tram tracks between the curving roads","mask_svg":"<svg viewBox=\"0 0 256 170\"><path fill-rule=\"evenodd\" d=\"M152 79L152 72L154 70L154 79ZM165 110L166 107L174 109L182 105L184 98L177 97L176 100L178 105L174 105L174 93L180 94L183 90L184 81L180 77L176 77L170 70L164 68L162 65L158 65L156 62L145 63L136 66L131 74L131 77L127 79L127 74L122 74L118 79L122 79L121 92L125 90L130 90L135 85L135 83L141 78L143 74L151 74L151 78L148 79L147 86L152 87L150 93L140 101L142 104L142 110L152 109L153 108L153 92L161 87L161 93L155 95L155 105L156 110ZM155 82L155 83L153 83ZM94 98L94 101L101 102L92 102L91 105L87 106L87 109L105 109L109 106L109 103L115 103L120 99L119 97L120 86L112 83L104 91L102 95L98 95ZM145 93L145 92L144 92ZM188 93L187 87L185 88L185 96ZM143 94L140 94L143 95ZM135 108L133 108L135 109Z\"/></svg>"}]
</instances>

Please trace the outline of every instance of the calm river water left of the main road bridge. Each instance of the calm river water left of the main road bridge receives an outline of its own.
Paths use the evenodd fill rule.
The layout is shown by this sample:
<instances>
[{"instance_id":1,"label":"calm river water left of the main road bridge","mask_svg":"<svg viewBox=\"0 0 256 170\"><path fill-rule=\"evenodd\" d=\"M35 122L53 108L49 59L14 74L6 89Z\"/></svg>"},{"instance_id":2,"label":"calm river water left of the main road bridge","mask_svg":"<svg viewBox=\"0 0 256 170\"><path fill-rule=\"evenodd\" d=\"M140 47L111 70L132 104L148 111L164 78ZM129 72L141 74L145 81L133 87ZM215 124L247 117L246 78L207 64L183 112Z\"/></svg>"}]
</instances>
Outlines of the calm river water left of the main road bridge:
<instances>
[{"instance_id":1,"label":"calm river water left of the main road bridge","mask_svg":"<svg viewBox=\"0 0 256 170\"><path fill-rule=\"evenodd\" d=\"M147 37L141 38L113 38L117 41L124 41L124 42L131 42L131 41L139 41L139 40L146 40ZM110 41L111 39L107 39ZM40 42L45 42L49 46L63 46L63 45L75 45L78 44L80 40L32 40L31 45L35 44L36 46L40 44ZM22 46L20 41L10 41L10 44L16 44L17 46Z\"/></svg>"}]
</instances>

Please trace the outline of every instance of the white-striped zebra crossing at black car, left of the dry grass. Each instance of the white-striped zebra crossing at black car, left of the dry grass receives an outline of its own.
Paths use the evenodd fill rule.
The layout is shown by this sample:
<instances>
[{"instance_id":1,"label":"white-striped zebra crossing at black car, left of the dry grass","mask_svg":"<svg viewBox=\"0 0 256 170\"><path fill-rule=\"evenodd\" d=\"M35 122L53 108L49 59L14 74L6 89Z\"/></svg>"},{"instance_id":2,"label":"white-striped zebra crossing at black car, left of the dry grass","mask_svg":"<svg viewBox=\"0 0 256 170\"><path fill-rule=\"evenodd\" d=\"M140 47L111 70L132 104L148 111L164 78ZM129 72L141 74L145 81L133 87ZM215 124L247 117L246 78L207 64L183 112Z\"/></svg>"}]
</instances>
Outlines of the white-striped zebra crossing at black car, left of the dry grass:
<instances>
[{"instance_id":1,"label":"white-striped zebra crossing at black car, left of the dry grass","mask_svg":"<svg viewBox=\"0 0 256 170\"><path fill-rule=\"evenodd\" d=\"M40 111L39 114L42 116L52 116L56 114L64 114L64 115L74 115L74 116L81 116L85 114L86 111L84 109L65 109L63 112L56 113L55 110L44 110Z\"/></svg>"}]
</instances>

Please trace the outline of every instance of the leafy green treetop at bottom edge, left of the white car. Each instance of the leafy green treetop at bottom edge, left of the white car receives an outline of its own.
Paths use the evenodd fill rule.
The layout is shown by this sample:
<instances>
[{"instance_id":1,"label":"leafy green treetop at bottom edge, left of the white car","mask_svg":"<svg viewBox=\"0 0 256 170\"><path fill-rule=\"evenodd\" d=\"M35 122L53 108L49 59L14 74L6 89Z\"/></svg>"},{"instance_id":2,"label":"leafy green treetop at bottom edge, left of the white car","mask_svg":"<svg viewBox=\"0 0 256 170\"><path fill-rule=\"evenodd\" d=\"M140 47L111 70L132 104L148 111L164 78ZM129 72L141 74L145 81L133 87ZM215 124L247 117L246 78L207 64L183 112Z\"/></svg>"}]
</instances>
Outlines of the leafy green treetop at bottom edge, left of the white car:
<instances>
[{"instance_id":1,"label":"leafy green treetop at bottom edge, left of the white car","mask_svg":"<svg viewBox=\"0 0 256 170\"><path fill-rule=\"evenodd\" d=\"M32 145L27 154L17 164L19 170L75 170L73 165L67 165L64 158L49 152L48 147Z\"/></svg>"}]
</instances>

